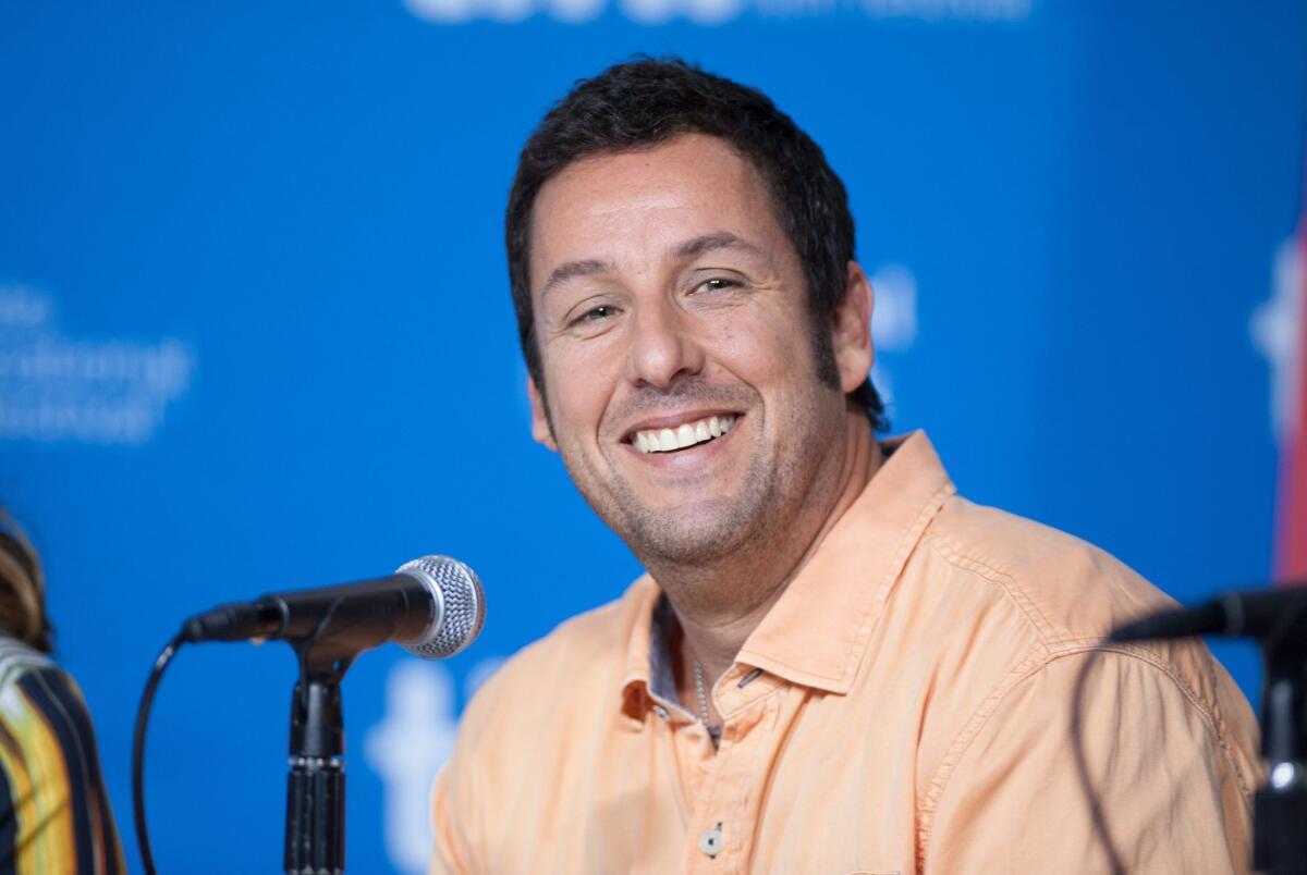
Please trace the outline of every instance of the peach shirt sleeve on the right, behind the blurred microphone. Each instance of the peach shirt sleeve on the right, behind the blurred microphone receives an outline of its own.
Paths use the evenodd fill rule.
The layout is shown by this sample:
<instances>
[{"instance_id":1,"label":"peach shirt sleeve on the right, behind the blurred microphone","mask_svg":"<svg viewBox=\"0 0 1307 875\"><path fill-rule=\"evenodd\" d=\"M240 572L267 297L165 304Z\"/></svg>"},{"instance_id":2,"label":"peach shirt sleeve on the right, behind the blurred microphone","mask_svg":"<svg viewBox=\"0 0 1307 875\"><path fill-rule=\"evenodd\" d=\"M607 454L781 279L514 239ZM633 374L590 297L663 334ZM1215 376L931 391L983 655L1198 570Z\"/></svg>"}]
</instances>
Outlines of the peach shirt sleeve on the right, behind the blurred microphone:
<instances>
[{"instance_id":1,"label":"peach shirt sleeve on the right, behind the blurred microphone","mask_svg":"<svg viewBox=\"0 0 1307 875\"><path fill-rule=\"evenodd\" d=\"M1070 739L1085 660L1084 750L1125 871L1249 871L1248 776L1221 724L1165 663L1127 652L1053 658L987 703L941 774L925 871L1110 871Z\"/></svg>"}]
</instances>

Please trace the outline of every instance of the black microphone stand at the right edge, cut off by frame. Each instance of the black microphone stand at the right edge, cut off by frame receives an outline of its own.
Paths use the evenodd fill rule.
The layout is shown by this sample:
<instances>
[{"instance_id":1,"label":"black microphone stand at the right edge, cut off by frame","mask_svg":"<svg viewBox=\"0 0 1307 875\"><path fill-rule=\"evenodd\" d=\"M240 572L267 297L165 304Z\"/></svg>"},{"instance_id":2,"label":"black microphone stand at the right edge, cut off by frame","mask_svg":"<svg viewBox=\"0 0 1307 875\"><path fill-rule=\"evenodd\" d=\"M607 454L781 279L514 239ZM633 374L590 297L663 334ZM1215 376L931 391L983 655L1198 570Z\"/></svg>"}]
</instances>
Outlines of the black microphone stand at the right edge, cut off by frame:
<instances>
[{"instance_id":1,"label":"black microphone stand at the right edge, cut off by frame","mask_svg":"<svg viewBox=\"0 0 1307 875\"><path fill-rule=\"evenodd\" d=\"M1263 640L1261 752L1269 769L1252 815L1252 867L1307 874L1307 611Z\"/></svg>"}]
</instances>

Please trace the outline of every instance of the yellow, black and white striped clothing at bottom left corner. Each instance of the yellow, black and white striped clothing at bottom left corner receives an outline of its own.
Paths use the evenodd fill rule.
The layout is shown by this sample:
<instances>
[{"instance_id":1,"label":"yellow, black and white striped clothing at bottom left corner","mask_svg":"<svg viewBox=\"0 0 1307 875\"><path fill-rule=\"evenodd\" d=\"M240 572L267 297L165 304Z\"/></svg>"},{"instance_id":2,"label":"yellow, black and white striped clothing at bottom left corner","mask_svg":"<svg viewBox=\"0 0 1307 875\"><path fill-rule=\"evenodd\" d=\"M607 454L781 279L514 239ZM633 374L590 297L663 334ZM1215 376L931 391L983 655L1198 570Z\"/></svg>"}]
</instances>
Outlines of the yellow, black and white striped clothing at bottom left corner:
<instances>
[{"instance_id":1,"label":"yellow, black and white striped clothing at bottom left corner","mask_svg":"<svg viewBox=\"0 0 1307 875\"><path fill-rule=\"evenodd\" d=\"M125 871L81 691L0 637L0 872Z\"/></svg>"}]
</instances>

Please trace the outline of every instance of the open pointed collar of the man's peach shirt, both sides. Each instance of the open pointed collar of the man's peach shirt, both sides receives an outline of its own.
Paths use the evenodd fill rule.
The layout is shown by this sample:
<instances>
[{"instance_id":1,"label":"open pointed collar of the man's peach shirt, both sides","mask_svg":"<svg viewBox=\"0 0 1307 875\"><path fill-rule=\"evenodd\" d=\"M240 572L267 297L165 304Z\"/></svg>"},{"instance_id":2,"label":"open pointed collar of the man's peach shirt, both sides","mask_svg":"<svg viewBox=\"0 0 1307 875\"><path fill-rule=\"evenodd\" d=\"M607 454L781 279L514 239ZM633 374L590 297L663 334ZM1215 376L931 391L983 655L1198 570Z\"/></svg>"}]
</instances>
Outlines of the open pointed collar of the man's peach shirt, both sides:
<instances>
[{"instance_id":1,"label":"open pointed collar of the man's peach shirt, both sides","mask_svg":"<svg viewBox=\"0 0 1307 875\"><path fill-rule=\"evenodd\" d=\"M925 432L881 445L886 453L881 468L745 641L737 662L792 683L848 692L894 581L931 520L955 492ZM668 632L674 615L663 609L667 601L660 596L646 575L623 598L634 622L622 700L635 720L640 707L634 693L665 696L670 676ZM670 701L676 701L674 683L672 691Z\"/></svg>"}]
</instances>

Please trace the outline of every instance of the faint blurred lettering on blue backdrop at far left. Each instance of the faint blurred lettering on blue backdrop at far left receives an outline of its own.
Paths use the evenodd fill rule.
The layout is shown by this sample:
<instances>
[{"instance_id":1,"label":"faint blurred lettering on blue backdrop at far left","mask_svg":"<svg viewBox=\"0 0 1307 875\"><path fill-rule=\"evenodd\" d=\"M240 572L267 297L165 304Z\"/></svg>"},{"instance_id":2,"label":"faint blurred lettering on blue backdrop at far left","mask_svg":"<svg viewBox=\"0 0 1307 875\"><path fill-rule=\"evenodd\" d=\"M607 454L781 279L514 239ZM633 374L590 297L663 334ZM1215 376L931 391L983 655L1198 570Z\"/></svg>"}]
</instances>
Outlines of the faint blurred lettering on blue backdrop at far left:
<instances>
[{"instance_id":1,"label":"faint blurred lettering on blue backdrop at far left","mask_svg":"<svg viewBox=\"0 0 1307 875\"><path fill-rule=\"evenodd\" d=\"M193 370L193 350L171 337L65 337L48 294L0 283L0 440L141 445Z\"/></svg>"}]
</instances>

